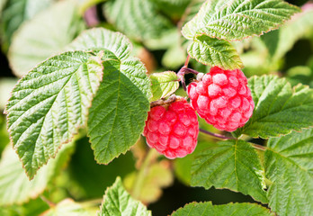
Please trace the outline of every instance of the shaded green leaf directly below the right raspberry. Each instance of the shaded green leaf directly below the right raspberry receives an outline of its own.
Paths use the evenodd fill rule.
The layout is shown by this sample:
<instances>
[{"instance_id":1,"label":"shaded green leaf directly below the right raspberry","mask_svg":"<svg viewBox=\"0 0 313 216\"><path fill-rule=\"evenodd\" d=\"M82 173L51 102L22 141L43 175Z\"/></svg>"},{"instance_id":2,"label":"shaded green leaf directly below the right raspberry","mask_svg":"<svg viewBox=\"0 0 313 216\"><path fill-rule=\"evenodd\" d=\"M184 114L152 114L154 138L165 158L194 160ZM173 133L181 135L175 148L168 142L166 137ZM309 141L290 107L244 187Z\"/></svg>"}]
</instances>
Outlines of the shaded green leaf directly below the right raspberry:
<instances>
[{"instance_id":1,"label":"shaded green leaf directly below the right raspberry","mask_svg":"<svg viewBox=\"0 0 313 216\"><path fill-rule=\"evenodd\" d=\"M219 142L203 149L192 162L192 186L228 188L268 202L264 191L264 169L250 143L243 140Z\"/></svg>"}]
</instances>

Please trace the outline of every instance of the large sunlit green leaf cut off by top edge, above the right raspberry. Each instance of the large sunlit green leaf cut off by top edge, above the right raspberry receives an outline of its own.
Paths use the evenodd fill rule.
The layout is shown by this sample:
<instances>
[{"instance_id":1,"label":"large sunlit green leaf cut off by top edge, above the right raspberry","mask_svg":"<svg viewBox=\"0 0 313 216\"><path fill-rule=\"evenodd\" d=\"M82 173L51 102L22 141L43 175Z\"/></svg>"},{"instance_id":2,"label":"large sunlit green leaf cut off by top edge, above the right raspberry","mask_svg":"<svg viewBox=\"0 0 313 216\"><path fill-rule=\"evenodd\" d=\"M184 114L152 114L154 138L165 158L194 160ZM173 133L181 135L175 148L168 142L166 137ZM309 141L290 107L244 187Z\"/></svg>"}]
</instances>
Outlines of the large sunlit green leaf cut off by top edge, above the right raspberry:
<instances>
[{"instance_id":1,"label":"large sunlit green leaf cut off by top edge, above the right raspberry","mask_svg":"<svg viewBox=\"0 0 313 216\"><path fill-rule=\"evenodd\" d=\"M198 35L223 40L243 40L277 29L300 12L282 0L210 0L183 26L183 36L193 40Z\"/></svg>"}]
</instances>

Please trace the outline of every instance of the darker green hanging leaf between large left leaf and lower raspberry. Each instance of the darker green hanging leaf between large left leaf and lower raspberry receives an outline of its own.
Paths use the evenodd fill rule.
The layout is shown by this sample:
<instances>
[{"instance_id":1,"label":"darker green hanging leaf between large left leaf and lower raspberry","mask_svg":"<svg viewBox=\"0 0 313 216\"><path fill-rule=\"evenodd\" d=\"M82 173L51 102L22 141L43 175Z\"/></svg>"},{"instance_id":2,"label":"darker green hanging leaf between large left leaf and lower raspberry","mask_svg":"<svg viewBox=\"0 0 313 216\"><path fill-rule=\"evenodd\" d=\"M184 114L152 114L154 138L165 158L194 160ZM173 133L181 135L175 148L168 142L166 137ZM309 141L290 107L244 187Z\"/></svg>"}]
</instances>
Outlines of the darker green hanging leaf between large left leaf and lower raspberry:
<instances>
[{"instance_id":1,"label":"darker green hanging leaf between large left leaf and lower raspberry","mask_svg":"<svg viewBox=\"0 0 313 216\"><path fill-rule=\"evenodd\" d=\"M146 68L136 58L104 62L103 82L88 118L94 157L107 164L136 143L150 108Z\"/></svg>"}]
</instances>

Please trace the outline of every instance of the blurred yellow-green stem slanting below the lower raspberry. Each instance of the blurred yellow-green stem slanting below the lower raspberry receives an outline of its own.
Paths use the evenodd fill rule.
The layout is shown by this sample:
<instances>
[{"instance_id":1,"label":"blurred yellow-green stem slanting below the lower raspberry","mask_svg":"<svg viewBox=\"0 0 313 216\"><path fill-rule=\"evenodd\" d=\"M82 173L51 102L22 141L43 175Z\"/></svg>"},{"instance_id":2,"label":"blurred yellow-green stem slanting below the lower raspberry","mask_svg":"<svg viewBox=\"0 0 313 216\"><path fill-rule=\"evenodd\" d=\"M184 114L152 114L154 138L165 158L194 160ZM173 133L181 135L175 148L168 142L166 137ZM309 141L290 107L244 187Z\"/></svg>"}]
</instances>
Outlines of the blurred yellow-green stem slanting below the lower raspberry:
<instances>
[{"instance_id":1,"label":"blurred yellow-green stem slanting below the lower raspberry","mask_svg":"<svg viewBox=\"0 0 313 216\"><path fill-rule=\"evenodd\" d=\"M135 199L139 199L141 188L144 184L145 178L148 174L148 168L150 164L152 163L153 159L156 157L156 150L153 148L149 148L147 156L143 162L143 164L140 166L139 173L136 177L135 184L132 188L132 195Z\"/></svg>"}]
</instances>

